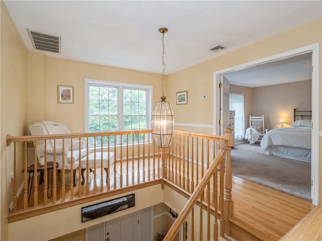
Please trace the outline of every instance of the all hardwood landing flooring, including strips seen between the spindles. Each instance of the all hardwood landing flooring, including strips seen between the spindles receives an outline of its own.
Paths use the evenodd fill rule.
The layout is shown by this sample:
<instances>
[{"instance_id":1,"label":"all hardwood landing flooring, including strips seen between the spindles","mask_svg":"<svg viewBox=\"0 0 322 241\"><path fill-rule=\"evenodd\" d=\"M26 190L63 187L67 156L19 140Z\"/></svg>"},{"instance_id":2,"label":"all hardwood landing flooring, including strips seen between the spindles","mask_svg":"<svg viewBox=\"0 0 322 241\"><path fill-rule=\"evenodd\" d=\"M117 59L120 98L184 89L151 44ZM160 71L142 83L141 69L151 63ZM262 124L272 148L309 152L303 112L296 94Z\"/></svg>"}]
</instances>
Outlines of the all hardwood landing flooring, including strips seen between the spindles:
<instances>
[{"instance_id":1,"label":"all hardwood landing flooring, including strips seen between the spindles","mask_svg":"<svg viewBox=\"0 0 322 241\"><path fill-rule=\"evenodd\" d=\"M145 163L147 165L147 162ZM119 169L118 165L118 168ZM126 182L126 169L124 163L123 166L123 186ZM155 165L156 166L156 165ZM137 167L137 162L134 164L134 167ZM153 167L153 164L150 163L150 167ZM142 168L142 165L139 166ZM195 169L196 170L196 169ZM199 173L201 172L201 167L199 168ZM132 171L131 171L132 172ZM129 182L132 183L132 173L129 172ZM147 173L145 171L145 180L147 181ZM101 181L103 180L104 191L107 190L105 177L100 178L100 172L96 173L96 180L93 180L93 172L89 175L89 185L81 185L82 193L87 192L87 188L90 189L90 193L94 193L95 189L99 190L101 186ZM103 175L106 175L103 172ZM158 178L157 169L155 168L155 178ZM201 177L201 174L200 174ZM119 175L116 178L116 181L119 183L121 176ZM134 183L137 183L137 172L134 172ZM142 175L140 177L142 179ZM153 179L153 171L150 172L150 179ZM111 177L110 187L113 189L113 177ZM66 197L70 196L70 185L66 183ZM76 184L78 185L78 172L76 171ZM59 174L57 178L57 199L60 196L60 181ZM130 185L130 184L129 184ZM38 196L39 203L43 202L40 198L41 188L43 184L39 185L40 192ZM42 191L43 192L43 191ZM69 192L69 193L68 193ZM74 188L74 195L78 195L78 188ZM23 205L21 195L18 199L18 206ZM281 238L288 230L290 230L299 220L301 220L311 209L313 205L304 199L279 192L277 190L252 183L250 181L233 177L232 180L232 200L234 202L234 216L232 222L244 229L247 229L254 236L260 240L278 240ZM48 200L50 202L50 199ZM28 205L33 204L33 196L31 196ZM19 209L19 208L18 208ZM241 239L239 239L241 240Z\"/></svg>"}]
</instances>

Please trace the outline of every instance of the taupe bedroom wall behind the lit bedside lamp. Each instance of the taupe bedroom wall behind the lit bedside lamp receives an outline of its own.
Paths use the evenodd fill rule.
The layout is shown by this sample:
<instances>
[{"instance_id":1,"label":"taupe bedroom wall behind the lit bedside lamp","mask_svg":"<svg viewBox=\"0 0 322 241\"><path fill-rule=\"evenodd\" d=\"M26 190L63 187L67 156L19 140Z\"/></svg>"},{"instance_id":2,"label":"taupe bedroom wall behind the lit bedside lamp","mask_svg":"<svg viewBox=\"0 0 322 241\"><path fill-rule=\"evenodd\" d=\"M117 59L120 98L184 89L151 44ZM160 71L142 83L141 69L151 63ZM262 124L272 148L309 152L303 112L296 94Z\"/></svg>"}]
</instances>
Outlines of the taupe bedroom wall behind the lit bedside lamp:
<instances>
[{"instance_id":1,"label":"taupe bedroom wall behind the lit bedside lamp","mask_svg":"<svg viewBox=\"0 0 322 241\"><path fill-rule=\"evenodd\" d=\"M287 124L294 119L294 108L311 110L311 80L256 87L253 91L253 115L264 114L265 128L274 129L280 118Z\"/></svg>"}]
</instances>

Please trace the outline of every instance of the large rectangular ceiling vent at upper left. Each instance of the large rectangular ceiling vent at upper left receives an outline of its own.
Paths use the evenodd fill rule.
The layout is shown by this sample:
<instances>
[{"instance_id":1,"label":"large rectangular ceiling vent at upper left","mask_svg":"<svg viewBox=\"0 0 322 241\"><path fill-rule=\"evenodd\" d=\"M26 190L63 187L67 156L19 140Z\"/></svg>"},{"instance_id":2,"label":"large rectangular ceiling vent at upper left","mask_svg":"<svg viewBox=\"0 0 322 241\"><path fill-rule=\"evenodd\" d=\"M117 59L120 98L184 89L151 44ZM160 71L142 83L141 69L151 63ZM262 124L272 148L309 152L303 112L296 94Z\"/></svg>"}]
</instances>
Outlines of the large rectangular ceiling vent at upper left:
<instances>
[{"instance_id":1,"label":"large rectangular ceiling vent at upper left","mask_svg":"<svg viewBox=\"0 0 322 241\"><path fill-rule=\"evenodd\" d=\"M27 30L35 49L60 54L60 36Z\"/></svg>"}]
</instances>

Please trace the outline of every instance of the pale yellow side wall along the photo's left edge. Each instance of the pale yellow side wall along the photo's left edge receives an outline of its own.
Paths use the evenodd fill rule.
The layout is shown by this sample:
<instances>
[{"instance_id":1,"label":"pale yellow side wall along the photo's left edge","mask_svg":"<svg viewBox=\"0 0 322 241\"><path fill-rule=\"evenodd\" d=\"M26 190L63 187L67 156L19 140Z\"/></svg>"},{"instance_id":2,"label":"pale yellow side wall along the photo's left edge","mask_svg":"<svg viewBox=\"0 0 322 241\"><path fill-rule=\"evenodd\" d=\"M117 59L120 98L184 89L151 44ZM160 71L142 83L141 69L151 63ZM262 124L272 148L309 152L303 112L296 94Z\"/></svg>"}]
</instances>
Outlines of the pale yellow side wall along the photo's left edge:
<instances>
[{"instance_id":1,"label":"pale yellow side wall along the photo's left edge","mask_svg":"<svg viewBox=\"0 0 322 241\"><path fill-rule=\"evenodd\" d=\"M23 136L27 127L27 61L28 52L1 1L1 240L8 239L8 209L13 196L13 145L7 148L6 136ZM8 151L7 151L8 150ZM19 153L18 157L22 154ZM20 159L21 160L21 159ZM22 169L18 163L17 171ZM18 184L22 180L18 180Z\"/></svg>"}]
</instances>

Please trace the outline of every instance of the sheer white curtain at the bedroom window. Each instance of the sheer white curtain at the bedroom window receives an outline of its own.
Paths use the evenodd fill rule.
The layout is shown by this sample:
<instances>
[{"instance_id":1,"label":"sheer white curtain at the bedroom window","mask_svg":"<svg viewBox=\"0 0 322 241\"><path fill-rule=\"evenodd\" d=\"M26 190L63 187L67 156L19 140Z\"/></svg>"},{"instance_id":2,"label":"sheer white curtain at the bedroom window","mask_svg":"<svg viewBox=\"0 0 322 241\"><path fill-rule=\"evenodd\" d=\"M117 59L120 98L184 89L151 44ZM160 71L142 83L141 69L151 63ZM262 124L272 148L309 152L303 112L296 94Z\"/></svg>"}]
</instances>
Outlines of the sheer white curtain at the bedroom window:
<instances>
[{"instance_id":1,"label":"sheer white curtain at the bedroom window","mask_svg":"<svg viewBox=\"0 0 322 241\"><path fill-rule=\"evenodd\" d=\"M229 110L235 110L235 139L245 136L244 94L229 94Z\"/></svg>"}]
</instances>

